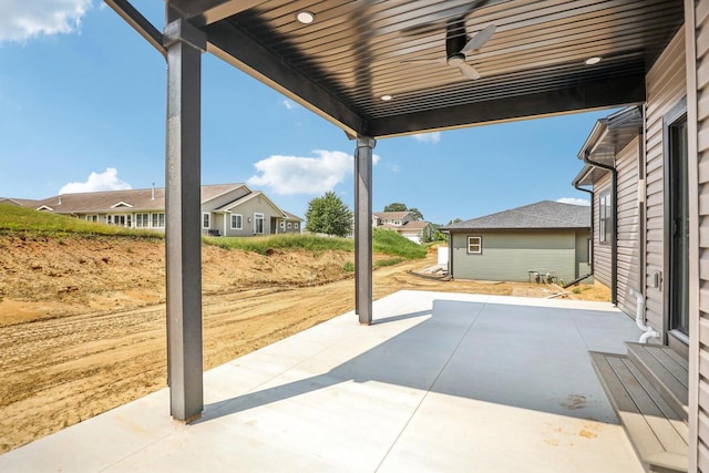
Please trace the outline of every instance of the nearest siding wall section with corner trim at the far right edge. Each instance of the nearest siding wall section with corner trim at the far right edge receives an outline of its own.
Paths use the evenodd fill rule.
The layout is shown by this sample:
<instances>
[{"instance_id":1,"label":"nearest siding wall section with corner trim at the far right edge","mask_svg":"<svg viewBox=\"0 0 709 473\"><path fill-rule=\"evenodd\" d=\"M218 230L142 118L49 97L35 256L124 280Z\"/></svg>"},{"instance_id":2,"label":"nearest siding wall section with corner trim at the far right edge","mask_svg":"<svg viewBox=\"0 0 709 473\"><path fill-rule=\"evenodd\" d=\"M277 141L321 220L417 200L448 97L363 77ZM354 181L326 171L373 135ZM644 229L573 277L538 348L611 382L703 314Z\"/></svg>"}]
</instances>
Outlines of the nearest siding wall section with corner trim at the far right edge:
<instances>
[{"instance_id":1,"label":"nearest siding wall section with corner trim at the far right edge","mask_svg":"<svg viewBox=\"0 0 709 473\"><path fill-rule=\"evenodd\" d=\"M691 54L687 68L691 89L687 111L689 185L690 195L693 189L699 196L697 209L690 216L697 216L690 224L698 226L698 233L690 234L690 240L696 245L690 248L690 280L698 276L698 286L690 287L689 463L690 471L709 472L709 0L687 1L686 6L688 25L695 33L689 35L687 49ZM697 163L692 162L693 156ZM698 267L692 266L697 260ZM696 313L699 320L696 320Z\"/></svg>"}]
</instances>

